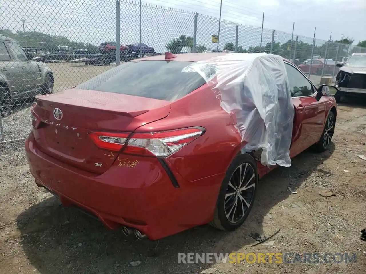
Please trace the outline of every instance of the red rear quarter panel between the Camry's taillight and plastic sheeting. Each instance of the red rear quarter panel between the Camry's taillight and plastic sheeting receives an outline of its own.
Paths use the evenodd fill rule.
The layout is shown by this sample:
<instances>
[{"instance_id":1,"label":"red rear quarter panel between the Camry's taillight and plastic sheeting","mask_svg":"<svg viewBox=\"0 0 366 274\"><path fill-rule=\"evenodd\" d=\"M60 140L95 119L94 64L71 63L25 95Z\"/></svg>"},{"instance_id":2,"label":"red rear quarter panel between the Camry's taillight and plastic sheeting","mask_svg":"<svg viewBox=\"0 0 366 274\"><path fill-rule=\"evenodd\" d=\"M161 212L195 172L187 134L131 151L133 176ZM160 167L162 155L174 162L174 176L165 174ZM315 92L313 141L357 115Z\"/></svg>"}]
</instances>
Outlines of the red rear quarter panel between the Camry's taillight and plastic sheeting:
<instances>
[{"instance_id":1,"label":"red rear quarter panel between the Camry's taillight and plastic sheeting","mask_svg":"<svg viewBox=\"0 0 366 274\"><path fill-rule=\"evenodd\" d=\"M173 172L194 181L227 171L240 151L241 137L234 124L211 87L205 84L173 102L167 118L142 126L136 132L204 127L205 134L165 159Z\"/></svg>"}]
</instances>

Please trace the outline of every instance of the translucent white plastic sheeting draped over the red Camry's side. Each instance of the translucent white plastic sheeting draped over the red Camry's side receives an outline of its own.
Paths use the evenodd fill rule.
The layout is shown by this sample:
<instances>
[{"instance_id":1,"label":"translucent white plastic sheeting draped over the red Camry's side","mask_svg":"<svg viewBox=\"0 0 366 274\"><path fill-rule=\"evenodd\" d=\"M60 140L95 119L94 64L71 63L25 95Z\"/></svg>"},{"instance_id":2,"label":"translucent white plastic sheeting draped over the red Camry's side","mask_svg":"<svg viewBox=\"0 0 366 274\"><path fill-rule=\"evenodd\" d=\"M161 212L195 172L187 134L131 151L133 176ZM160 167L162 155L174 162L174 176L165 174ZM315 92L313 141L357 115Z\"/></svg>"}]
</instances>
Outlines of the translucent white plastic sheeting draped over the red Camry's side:
<instances>
[{"instance_id":1,"label":"translucent white plastic sheeting draped over the red Camry's side","mask_svg":"<svg viewBox=\"0 0 366 274\"><path fill-rule=\"evenodd\" d=\"M294 105L283 58L267 53L228 53L188 65L236 117L242 153L262 149L263 165L289 167Z\"/></svg>"}]
</instances>

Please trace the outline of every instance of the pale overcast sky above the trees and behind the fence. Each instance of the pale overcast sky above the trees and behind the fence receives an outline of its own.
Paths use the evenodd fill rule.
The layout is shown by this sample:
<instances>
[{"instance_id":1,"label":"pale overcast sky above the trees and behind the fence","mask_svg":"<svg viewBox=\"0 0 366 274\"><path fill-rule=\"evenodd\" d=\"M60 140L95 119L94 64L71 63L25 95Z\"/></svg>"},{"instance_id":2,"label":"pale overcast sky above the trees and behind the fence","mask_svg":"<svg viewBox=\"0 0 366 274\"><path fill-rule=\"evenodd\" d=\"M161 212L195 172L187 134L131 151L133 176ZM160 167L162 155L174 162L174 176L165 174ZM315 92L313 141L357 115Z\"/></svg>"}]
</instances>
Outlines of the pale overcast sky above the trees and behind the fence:
<instances>
[{"instance_id":1,"label":"pale overcast sky above the trees and behind the fence","mask_svg":"<svg viewBox=\"0 0 366 274\"><path fill-rule=\"evenodd\" d=\"M216 47L210 40L212 34L217 34L220 0L144 0L143 3L149 6L142 7L142 42L163 51L170 39L180 34L193 36L193 13L198 12L205 16L198 17L197 43ZM263 44L271 41L269 29L277 30L275 41L291 39L293 22L294 34L310 44L314 27L317 44L329 39L330 32L335 40L342 34L352 37L355 43L366 39L365 0L223 0L220 48L225 42L235 42L236 23L240 24L239 45L244 48L259 45L263 12L266 28ZM63 35L72 41L95 45L115 41L114 0L0 0L0 28L22 30L22 18L26 20L26 31ZM138 2L121 1L120 26L122 44L139 41Z\"/></svg>"}]
</instances>

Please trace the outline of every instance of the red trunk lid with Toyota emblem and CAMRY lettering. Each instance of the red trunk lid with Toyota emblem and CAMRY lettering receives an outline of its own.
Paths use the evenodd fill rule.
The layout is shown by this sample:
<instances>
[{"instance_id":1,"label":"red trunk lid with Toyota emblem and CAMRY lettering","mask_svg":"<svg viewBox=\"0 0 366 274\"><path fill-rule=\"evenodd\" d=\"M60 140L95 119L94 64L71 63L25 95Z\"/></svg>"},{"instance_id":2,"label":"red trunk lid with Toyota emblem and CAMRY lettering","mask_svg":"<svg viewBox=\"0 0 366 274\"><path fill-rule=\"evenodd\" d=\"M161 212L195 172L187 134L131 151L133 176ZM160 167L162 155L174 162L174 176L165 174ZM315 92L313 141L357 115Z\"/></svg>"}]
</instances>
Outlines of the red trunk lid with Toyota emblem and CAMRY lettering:
<instances>
[{"instance_id":1,"label":"red trunk lid with Toyota emblem and CAMRY lettering","mask_svg":"<svg viewBox=\"0 0 366 274\"><path fill-rule=\"evenodd\" d=\"M89 132L133 132L168 116L171 102L110 92L70 89L37 97L36 145L57 160L102 174L118 153L98 148ZM55 110L56 109L56 110Z\"/></svg>"}]
</instances>

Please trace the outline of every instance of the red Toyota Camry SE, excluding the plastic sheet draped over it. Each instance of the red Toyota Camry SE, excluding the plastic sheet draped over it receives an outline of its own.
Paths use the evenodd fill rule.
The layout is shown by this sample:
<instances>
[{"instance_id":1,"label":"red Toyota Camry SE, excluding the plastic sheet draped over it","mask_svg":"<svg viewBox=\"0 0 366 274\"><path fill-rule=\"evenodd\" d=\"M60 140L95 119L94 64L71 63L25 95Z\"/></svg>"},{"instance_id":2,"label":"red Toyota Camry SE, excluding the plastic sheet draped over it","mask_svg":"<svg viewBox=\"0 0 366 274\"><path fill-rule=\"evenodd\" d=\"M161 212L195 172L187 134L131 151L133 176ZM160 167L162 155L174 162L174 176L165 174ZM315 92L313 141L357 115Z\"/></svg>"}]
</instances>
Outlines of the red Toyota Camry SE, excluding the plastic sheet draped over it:
<instances>
[{"instance_id":1,"label":"red Toyota Camry SE, excluding the plastic sheet draped over it","mask_svg":"<svg viewBox=\"0 0 366 274\"><path fill-rule=\"evenodd\" d=\"M142 58L38 96L25 144L37 185L138 239L208 223L224 231L240 227L258 180L275 165L262 164L255 150L242 153L237 119L223 109L212 84L199 73L182 73L223 54ZM283 62L294 106L289 155L312 145L325 151L337 88L317 88Z\"/></svg>"}]
</instances>

